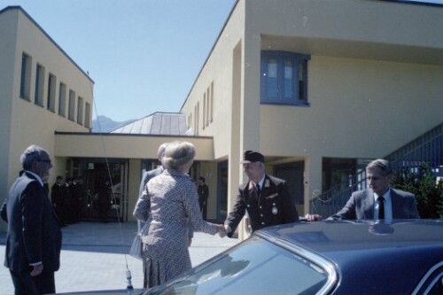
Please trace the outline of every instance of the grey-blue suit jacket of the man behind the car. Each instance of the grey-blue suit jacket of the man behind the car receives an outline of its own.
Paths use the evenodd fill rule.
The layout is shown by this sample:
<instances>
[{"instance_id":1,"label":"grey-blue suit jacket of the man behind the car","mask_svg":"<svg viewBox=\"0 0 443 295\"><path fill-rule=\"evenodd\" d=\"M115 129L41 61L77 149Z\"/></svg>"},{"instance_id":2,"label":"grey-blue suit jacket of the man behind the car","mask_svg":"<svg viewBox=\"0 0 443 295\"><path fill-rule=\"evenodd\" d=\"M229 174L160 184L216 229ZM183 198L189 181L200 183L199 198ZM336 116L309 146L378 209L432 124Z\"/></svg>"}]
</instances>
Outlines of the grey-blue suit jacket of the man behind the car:
<instances>
[{"instance_id":1,"label":"grey-blue suit jacket of the man behind the car","mask_svg":"<svg viewBox=\"0 0 443 295\"><path fill-rule=\"evenodd\" d=\"M420 218L416 207L416 197L408 191L391 190L392 219ZM334 220L374 219L374 192L372 190L354 191L351 198L338 213L330 216Z\"/></svg>"}]
</instances>

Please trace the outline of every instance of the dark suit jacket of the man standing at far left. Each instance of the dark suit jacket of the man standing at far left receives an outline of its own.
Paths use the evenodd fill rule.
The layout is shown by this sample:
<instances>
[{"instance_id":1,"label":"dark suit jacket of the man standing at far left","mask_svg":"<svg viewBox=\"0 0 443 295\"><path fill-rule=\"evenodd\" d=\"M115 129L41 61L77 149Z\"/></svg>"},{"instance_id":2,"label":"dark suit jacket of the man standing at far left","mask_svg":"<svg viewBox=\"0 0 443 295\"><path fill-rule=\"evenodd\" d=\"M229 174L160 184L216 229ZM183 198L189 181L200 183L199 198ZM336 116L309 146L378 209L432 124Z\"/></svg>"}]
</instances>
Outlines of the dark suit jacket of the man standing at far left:
<instances>
[{"instance_id":1,"label":"dark suit jacket of the man standing at far left","mask_svg":"<svg viewBox=\"0 0 443 295\"><path fill-rule=\"evenodd\" d=\"M61 230L40 182L25 172L12 184L5 202L9 222L4 266L29 271L30 264L42 261L45 270L58 270Z\"/></svg>"}]
</instances>

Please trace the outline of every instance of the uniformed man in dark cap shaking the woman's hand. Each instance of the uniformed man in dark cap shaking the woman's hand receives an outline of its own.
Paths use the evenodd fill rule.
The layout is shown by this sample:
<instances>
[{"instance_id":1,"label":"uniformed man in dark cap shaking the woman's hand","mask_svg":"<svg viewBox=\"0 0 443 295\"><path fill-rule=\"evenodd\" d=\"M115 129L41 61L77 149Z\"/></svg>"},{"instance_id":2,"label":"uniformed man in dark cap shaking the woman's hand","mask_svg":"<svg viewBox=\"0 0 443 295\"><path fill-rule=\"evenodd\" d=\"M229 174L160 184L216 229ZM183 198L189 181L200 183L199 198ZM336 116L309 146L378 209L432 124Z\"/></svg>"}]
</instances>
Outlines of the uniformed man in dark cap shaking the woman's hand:
<instances>
[{"instance_id":1,"label":"uniformed man in dark cap shaking the woman's hand","mask_svg":"<svg viewBox=\"0 0 443 295\"><path fill-rule=\"evenodd\" d=\"M286 182L265 174L264 161L258 151L244 153L241 163L248 181L239 186L236 203L224 221L228 237L232 237L246 212L252 231L299 221L299 213Z\"/></svg>"}]
</instances>

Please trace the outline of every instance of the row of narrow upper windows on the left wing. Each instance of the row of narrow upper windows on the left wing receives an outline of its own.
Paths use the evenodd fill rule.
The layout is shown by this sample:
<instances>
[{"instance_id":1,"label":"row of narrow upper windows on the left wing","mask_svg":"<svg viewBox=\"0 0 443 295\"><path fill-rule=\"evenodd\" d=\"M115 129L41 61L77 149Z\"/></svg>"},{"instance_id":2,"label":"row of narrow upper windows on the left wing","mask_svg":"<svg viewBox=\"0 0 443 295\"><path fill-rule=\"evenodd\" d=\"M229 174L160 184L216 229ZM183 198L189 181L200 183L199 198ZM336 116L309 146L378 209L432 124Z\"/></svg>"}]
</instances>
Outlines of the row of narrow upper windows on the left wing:
<instances>
[{"instance_id":1,"label":"row of narrow upper windows on the left wing","mask_svg":"<svg viewBox=\"0 0 443 295\"><path fill-rule=\"evenodd\" d=\"M20 97L31 100L31 79L32 77L32 58L31 56L23 53L21 58L21 80L20 80ZM47 110L52 113L58 113L61 117L66 117L67 106L67 119L76 121L79 125L84 125L86 128L91 128L90 122L90 104L85 103L82 97L77 97L73 89L67 91L66 84L63 82L57 82L55 74L49 73L46 78L46 69L41 64L35 66L35 91L34 91L34 103L42 107L46 107ZM44 88L47 87L46 97L44 97ZM58 91L57 91L58 90ZM66 105L67 102L67 105ZM75 108L75 105L77 106ZM56 110L56 108L58 108ZM75 112L76 111L76 112Z\"/></svg>"}]
</instances>

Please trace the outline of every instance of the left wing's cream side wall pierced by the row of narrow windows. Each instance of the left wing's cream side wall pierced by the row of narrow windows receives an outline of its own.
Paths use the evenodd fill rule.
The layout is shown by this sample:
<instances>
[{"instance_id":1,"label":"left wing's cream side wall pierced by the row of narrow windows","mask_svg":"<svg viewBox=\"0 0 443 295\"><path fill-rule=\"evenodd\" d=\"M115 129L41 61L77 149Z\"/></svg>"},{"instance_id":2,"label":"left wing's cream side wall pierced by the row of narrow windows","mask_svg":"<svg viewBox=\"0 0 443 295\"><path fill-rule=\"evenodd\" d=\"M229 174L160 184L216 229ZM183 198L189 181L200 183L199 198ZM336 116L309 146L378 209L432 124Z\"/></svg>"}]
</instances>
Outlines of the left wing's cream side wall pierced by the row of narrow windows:
<instances>
[{"instance_id":1,"label":"left wing's cream side wall pierced by the row of narrow windows","mask_svg":"<svg viewBox=\"0 0 443 295\"><path fill-rule=\"evenodd\" d=\"M92 105L92 89L93 82L84 74L74 62L66 56L66 53L58 48L58 45L53 43L47 35L39 27L35 27L35 23L27 18L25 14L19 11L18 13L18 31L17 43L15 52L15 71L14 82L12 84L12 116L10 132L14 135L11 138L10 145L14 147L10 151L10 159L19 159L21 152L29 144L39 144L46 148L51 157L54 157L55 137L54 130L58 131L74 131L74 132L88 132L86 128L75 121L68 120L66 117L60 117L58 110L58 83L64 82L66 90L73 89L77 97L82 97L84 102ZM20 85L20 71L21 71L21 57L22 53L26 52L32 58L31 67L31 85L29 101L19 98ZM43 83L43 107L35 105L35 69L36 65L44 66L44 83ZM56 87L56 113L52 113L46 109L47 93L48 93L48 76L54 74L57 80ZM66 99L68 95L66 95ZM66 101L66 115L67 115L67 101ZM75 104L75 115L77 104ZM54 158L53 158L54 159ZM57 160L54 162L55 170L59 170ZM62 164L64 165L64 164ZM19 163L16 161L12 164L17 167L19 171ZM10 175L9 182L12 183L16 174ZM51 175L50 182L54 182L55 175Z\"/></svg>"}]
</instances>

